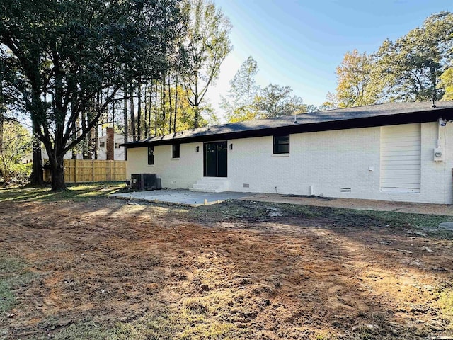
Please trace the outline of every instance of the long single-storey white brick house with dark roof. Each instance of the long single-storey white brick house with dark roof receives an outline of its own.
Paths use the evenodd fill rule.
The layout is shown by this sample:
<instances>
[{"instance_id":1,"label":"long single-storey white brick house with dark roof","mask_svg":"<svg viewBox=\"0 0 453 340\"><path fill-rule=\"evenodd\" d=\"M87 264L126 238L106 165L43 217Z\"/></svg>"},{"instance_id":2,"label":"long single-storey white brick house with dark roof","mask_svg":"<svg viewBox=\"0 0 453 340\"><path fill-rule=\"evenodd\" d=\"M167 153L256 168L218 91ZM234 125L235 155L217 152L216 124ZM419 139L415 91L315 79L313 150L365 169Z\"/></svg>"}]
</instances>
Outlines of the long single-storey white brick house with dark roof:
<instances>
[{"instance_id":1,"label":"long single-storey white brick house with dark roof","mask_svg":"<svg viewBox=\"0 0 453 340\"><path fill-rule=\"evenodd\" d=\"M452 204L452 120L452 101L386 103L198 128L127 143L126 172L166 188Z\"/></svg>"}]
</instances>

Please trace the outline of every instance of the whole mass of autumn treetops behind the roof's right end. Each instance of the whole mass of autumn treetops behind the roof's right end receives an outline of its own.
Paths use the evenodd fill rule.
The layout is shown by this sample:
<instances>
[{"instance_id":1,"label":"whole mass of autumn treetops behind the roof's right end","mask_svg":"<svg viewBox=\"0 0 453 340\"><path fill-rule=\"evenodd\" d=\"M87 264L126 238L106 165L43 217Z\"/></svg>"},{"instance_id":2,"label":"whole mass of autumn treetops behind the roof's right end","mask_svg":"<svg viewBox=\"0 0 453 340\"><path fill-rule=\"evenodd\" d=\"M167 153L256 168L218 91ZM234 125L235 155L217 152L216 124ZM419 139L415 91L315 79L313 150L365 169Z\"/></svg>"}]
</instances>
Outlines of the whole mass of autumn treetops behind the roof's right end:
<instances>
[{"instance_id":1,"label":"whole mass of autumn treetops behind the roof's right end","mask_svg":"<svg viewBox=\"0 0 453 340\"><path fill-rule=\"evenodd\" d=\"M347 52L337 67L336 107L383 101L430 101L453 98L453 13L425 19L401 38L382 42L376 53Z\"/></svg>"}]
</instances>

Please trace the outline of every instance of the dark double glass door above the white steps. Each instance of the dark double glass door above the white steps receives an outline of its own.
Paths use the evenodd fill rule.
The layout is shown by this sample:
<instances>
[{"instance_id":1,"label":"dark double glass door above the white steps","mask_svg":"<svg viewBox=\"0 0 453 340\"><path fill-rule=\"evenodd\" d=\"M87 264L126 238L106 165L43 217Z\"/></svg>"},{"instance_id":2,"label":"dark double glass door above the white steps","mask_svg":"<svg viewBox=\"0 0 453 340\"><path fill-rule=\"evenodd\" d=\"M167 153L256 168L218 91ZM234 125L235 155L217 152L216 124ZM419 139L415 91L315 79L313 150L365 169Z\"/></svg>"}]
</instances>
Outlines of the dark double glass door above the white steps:
<instances>
[{"instance_id":1,"label":"dark double glass door above the white steps","mask_svg":"<svg viewBox=\"0 0 453 340\"><path fill-rule=\"evenodd\" d=\"M226 177L226 141L203 145L205 177Z\"/></svg>"}]
</instances>

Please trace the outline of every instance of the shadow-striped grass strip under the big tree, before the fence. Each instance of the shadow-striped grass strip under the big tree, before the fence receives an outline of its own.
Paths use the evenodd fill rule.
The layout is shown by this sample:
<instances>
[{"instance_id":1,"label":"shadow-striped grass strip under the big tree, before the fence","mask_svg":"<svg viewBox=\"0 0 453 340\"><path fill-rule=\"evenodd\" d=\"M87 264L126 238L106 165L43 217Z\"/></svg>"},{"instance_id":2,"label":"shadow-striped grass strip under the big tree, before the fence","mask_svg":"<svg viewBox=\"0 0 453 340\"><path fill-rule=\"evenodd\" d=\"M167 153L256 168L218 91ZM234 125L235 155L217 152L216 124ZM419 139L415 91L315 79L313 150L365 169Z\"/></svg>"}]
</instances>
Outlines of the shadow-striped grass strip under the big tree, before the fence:
<instances>
[{"instance_id":1,"label":"shadow-striped grass strip under the big tree, before the fence","mask_svg":"<svg viewBox=\"0 0 453 340\"><path fill-rule=\"evenodd\" d=\"M71 200L84 202L92 198L109 196L112 193L124 191L124 182L101 182L101 183L80 183L67 184L68 190L52 192L50 188L0 188L0 202L5 201L38 201L52 202L59 200Z\"/></svg>"}]
</instances>

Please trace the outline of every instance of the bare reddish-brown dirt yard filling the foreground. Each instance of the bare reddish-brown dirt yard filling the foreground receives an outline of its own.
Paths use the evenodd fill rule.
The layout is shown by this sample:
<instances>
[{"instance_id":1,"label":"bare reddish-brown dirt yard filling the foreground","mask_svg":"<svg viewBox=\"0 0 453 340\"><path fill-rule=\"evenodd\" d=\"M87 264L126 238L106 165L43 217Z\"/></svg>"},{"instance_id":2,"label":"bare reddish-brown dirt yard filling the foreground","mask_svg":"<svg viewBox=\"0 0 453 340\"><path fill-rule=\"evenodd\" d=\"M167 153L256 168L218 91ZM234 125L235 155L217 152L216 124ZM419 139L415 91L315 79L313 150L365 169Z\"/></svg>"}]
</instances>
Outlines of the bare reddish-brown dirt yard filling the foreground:
<instances>
[{"instance_id":1,"label":"bare reddish-brown dirt yard filling the foreground","mask_svg":"<svg viewBox=\"0 0 453 340\"><path fill-rule=\"evenodd\" d=\"M0 339L453 339L452 217L0 203Z\"/></svg>"}]
</instances>

